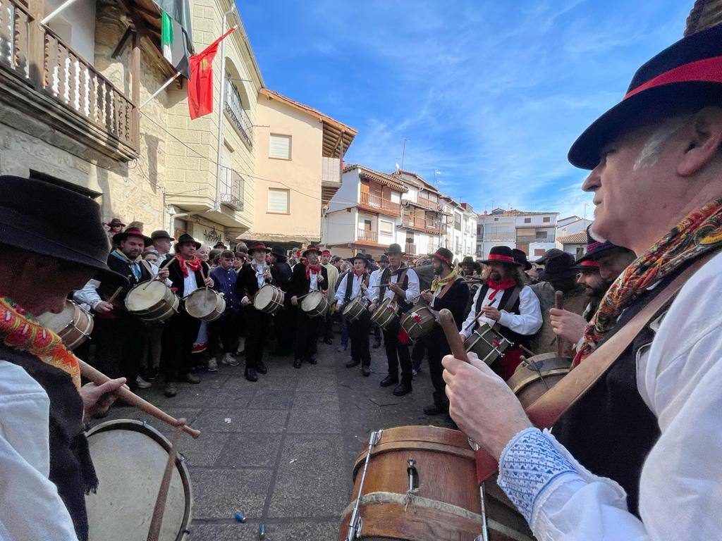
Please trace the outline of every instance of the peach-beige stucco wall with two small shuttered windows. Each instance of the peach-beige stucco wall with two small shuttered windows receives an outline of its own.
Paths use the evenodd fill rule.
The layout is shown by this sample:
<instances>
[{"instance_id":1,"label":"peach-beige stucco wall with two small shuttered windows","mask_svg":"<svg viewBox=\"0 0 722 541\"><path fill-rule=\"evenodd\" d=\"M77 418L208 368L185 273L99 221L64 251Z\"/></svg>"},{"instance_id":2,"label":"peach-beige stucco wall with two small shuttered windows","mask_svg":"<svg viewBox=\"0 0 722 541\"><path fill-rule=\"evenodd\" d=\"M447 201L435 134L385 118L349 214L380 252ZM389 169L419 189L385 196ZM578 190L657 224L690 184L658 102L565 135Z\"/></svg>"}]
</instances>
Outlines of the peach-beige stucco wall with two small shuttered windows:
<instances>
[{"instance_id":1,"label":"peach-beige stucco wall with two small shuttered windows","mask_svg":"<svg viewBox=\"0 0 722 541\"><path fill-rule=\"evenodd\" d=\"M261 95L257 105L256 209L253 234L259 239L321 237L323 126L307 113ZM291 159L269 158L271 133L291 136ZM290 214L269 214L269 188L290 189Z\"/></svg>"}]
</instances>

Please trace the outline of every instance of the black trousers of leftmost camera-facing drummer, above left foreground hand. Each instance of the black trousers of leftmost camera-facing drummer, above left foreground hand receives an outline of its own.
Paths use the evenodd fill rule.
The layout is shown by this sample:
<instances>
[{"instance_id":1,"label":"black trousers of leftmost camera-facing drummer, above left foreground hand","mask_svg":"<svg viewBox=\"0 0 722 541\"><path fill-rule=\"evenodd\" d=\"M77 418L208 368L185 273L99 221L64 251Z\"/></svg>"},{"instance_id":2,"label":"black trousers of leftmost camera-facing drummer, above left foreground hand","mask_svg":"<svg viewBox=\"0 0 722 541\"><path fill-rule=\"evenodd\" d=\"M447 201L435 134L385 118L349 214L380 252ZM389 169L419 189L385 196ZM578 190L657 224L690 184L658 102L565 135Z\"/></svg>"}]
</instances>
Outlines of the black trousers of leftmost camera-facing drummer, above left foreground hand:
<instances>
[{"instance_id":1,"label":"black trousers of leftmost camera-facing drummer, above left foreground hand","mask_svg":"<svg viewBox=\"0 0 722 541\"><path fill-rule=\"evenodd\" d=\"M131 316L96 317L92 338L97 369L111 378L125 377L135 388L147 338L143 322Z\"/></svg>"}]
</instances>

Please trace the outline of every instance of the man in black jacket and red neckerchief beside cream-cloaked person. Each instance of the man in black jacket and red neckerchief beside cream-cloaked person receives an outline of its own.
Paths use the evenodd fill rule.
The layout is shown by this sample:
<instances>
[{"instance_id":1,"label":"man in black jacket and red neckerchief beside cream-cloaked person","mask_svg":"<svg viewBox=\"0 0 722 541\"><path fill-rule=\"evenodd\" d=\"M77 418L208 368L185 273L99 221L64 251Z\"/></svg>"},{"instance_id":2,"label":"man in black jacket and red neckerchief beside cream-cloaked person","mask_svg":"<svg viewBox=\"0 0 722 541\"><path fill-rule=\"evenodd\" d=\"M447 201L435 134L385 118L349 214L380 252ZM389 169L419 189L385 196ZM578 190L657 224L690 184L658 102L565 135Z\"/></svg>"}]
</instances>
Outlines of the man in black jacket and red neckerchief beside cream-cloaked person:
<instances>
[{"instance_id":1,"label":"man in black jacket and red neckerchief beside cream-cloaked person","mask_svg":"<svg viewBox=\"0 0 722 541\"><path fill-rule=\"evenodd\" d=\"M323 291L323 294L326 294L326 290L329 289L329 274L321 265L320 255L321 249L310 245L303 250L301 263L293 267L291 304L297 307L294 368L300 368L303 361L316 364L316 340L318 340L319 322L323 321L323 318L308 317L299 306L303 299L299 301L298 297L310 291Z\"/></svg>"}]
</instances>

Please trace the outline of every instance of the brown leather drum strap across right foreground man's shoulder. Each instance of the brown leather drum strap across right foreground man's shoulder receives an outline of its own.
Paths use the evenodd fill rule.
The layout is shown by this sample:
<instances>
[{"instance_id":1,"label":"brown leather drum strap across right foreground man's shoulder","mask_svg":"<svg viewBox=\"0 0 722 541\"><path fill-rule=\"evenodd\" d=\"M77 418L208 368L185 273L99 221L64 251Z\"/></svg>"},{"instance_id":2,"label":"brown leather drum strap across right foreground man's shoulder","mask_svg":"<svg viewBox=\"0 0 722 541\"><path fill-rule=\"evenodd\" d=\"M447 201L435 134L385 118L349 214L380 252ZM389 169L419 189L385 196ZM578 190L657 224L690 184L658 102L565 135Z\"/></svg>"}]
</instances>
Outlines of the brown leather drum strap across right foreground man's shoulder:
<instances>
[{"instance_id":1,"label":"brown leather drum strap across right foreground man's shoulder","mask_svg":"<svg viewBox=\"0 0 722 541\"><path fill-rule=\"evenodd\" d=\"M648 325L669 304L682 289L684 283L702 267L708 260L716 255L716 250L711 250L700 256L694 263L679 273L668 286L655 296L635 317L627 322L627 325L614 333L609 340L604 341L597 347L581 364L576 366L570 373L560 379L551 390L541 395L533 404L526 408L526 415L534 426L539 428L550 428L559 418L571 408L588 390L601 378L614 361L625 352L627 347L634 341L643 328ZM482 449L477 451L477 478L484 480L490 478L498 469L498 465Z\"/></svg>"}]
</instances>

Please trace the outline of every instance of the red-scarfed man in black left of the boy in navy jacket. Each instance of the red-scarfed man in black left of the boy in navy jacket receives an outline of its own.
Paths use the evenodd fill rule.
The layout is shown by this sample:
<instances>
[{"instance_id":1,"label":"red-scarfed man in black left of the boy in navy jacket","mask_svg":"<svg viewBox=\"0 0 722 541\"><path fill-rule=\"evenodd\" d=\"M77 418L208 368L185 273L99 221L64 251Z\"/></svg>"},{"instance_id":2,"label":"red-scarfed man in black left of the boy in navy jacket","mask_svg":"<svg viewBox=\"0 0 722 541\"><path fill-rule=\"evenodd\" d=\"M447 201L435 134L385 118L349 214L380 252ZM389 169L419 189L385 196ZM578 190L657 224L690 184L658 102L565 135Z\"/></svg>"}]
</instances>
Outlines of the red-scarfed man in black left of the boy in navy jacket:
<instances>
[{"instance_id":1,"label":"red-scarfed man in black left of the boy in navy jacket","mask_svg":"<svg viewBox=\"0 0 722 541\"><path fill-rule=\"evenodd\" d=\"M196 250L200 247L200 242L196 242L188 233L183 233L175 243L175 256L166 259L162 264L161 268L168 269L168 279L173 284L171 288L181 299L185 299L196 289L206 285L213 286L211 268L196 256ZM183 302L178 307L178 313L165 322L160 368L165 374L163 392L167 397L174 397L178 393L176 380L201 382L199 377L191 374L193 340L196 339L200 327L200 320L188 315Z\"/></svg>"}]
</instances>

